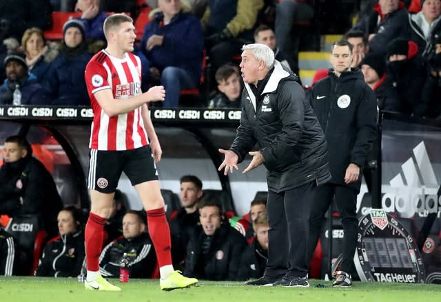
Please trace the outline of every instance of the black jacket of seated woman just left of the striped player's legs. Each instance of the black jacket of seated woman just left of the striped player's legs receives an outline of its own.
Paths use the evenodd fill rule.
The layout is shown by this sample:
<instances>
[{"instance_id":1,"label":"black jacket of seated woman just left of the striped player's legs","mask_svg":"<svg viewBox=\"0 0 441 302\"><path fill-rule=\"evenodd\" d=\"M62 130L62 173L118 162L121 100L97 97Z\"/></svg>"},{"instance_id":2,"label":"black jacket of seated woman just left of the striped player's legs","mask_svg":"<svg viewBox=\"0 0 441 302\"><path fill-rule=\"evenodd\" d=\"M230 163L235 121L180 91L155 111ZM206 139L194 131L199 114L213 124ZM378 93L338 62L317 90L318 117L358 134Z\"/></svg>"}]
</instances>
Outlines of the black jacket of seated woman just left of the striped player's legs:
<instances>
[{"instance_id":1,"label":"black jacket of seated woman just left of the striped player's legs","mask_svg":"<svg viewBox=\"0 0 441 302\"><path fill-rule=\"evenodd\" d=\"M35 276L76 277L85 257L84 233L57 236L46 244Z\"/></svg>"}]
</instances>

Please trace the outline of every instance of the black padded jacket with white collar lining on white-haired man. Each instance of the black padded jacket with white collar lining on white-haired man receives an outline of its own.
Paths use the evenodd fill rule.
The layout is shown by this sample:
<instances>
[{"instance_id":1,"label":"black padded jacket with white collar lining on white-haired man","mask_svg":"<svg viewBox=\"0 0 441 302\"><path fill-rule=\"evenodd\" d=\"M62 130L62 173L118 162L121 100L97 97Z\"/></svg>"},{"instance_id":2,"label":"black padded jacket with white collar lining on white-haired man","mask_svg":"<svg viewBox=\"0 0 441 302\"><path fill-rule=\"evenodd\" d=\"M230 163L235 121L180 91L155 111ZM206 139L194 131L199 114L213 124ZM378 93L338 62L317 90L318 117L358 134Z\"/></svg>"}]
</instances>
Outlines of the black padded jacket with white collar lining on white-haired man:
<instances>
[{"instance_id":1,"label":"black padded jacket with white collar lining on white-haired man","mask_svg":"<svg viewBox=\"0 0 441 302\"><path fill-rule=\"evenodd\" d=\"M242 162L257 143L271 191L286 191L312 180L327 182L331 175L325 135L294 76L275 61L258 89L262 92L256 97L245 84L240 125L230 150Z\"/></svg>"}]
</instances>

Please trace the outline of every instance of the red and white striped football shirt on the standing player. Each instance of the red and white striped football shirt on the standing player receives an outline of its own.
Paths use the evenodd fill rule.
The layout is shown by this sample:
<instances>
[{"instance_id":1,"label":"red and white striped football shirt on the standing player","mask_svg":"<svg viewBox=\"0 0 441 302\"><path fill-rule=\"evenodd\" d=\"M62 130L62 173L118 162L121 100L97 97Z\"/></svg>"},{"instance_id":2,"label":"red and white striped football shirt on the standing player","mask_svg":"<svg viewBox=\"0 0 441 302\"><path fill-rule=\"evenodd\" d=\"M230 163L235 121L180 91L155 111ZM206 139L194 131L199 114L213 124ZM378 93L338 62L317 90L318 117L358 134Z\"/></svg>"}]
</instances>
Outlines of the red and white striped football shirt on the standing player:
<instances>
[{"instance_id":1,"label":"red and white striped football shirt on the standing player","mask_svg":"<svg viewBox=\"0 0 441 302\"><path fill-rule=\"evenodd\" d=\"M105 114L94 96L97 91L103 89L112 89L115 99L127 99L141 94L139 57L126 53L121 59L101 50L85 67L84 78L94 112L90 149L128 150L149 144L141 107L126 114L110 117Z\"/></svg>"}]
</instances>

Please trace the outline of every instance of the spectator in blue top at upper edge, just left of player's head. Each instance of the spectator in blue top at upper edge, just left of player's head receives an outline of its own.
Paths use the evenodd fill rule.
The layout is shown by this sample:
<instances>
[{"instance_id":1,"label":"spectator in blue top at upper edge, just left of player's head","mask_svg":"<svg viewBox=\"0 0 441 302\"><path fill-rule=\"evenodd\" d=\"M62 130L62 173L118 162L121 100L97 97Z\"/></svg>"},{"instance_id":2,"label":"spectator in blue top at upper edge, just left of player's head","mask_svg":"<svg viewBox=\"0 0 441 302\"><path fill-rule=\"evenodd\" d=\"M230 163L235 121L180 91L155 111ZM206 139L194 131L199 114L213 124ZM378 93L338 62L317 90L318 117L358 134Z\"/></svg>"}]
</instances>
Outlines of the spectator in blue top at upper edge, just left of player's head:
<instances>
[{"instance_id":1,"label":"spectator in blue top at upper edge, just left of player's head","mask_svg":"<svg viewBox=\"0 0 441 302\"><path fill-rule=\"evenodd\" d=\"M82 12L79 20L84 25L85 39L105 41L103 25L107 17L105 12L100 10L100 0L78 0L75 11Z\"/></svg>"}]
</instances>

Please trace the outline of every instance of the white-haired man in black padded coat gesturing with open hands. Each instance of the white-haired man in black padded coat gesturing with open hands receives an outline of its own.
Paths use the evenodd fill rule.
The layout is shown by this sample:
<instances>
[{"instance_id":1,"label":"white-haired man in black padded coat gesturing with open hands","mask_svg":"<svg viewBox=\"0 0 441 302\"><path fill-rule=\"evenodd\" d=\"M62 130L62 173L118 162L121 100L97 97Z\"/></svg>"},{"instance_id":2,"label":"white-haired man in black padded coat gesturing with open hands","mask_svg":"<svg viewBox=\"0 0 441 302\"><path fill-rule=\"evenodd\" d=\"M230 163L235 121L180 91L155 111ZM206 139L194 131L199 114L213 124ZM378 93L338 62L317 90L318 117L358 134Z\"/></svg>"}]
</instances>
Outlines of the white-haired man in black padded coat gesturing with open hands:
<instances>
[{"instance_id":1,"label":"white-haired man in black padded coat gesturing with open hands","mask_svg":"<svg viewBox=\"0 0 441 302\"><path fill-rule=\"evenodd\" d=\"M267 169L268 265L247 285L308 287L308 217L316 186L331 179L325 135L296 78L274 60L267 45L245 45L240 69L245 82L236 138L219 170L232 173L245 155L247 173ZM258 151L252 151L258 144ZM252 151L252 152L250 152Z\"/></svg>"}]
</instances>

